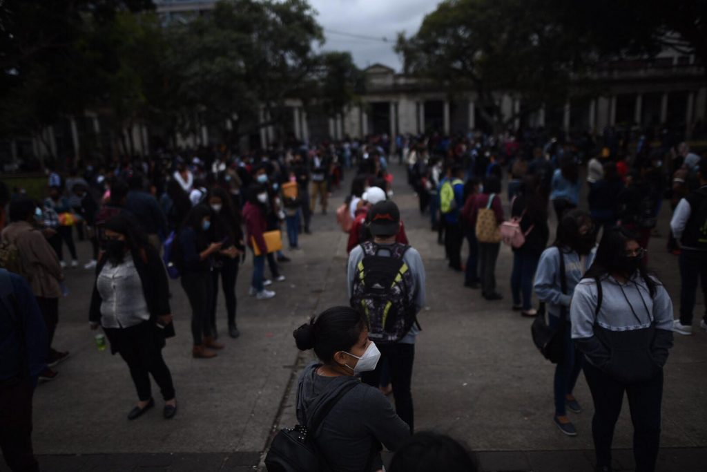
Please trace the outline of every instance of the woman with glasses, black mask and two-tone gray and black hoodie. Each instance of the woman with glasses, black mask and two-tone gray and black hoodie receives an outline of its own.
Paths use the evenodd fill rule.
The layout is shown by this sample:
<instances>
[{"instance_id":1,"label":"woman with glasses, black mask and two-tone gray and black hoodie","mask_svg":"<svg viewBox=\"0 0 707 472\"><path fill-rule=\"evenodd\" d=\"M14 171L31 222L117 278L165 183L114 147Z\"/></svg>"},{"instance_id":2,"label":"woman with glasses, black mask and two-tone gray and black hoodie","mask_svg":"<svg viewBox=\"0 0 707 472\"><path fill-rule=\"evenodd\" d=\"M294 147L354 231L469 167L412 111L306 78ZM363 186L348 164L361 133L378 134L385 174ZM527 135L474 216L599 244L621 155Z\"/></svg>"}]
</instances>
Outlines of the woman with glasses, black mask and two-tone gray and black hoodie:
<instances>
[{"instance_id":1,"label":"woman with glasses, black mask and two-tone gray and black hoodie","mask_svg":"<svg viewBox=\"0 0 707 472\"><path fill-rule=\"evenodd\" d=\"M610 229L572 299L572 338L586 358L584 375L594 401L597 471L612 470L612 438L624 392L636 471L654 471L658 458L662 369L672 347L673 314L665 287L645 269L644 255L636 234Z\"/></svg>"}]
</instances>

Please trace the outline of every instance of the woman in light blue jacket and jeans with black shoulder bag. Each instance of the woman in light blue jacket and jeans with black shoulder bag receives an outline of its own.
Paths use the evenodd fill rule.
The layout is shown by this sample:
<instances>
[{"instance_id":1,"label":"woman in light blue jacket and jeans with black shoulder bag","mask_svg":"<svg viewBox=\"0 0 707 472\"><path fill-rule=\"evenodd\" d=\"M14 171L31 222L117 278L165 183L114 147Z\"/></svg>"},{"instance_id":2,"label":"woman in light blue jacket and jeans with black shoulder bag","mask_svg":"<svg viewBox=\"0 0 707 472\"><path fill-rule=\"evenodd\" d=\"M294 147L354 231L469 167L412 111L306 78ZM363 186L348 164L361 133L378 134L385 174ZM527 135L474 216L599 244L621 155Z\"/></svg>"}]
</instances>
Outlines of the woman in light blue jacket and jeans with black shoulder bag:
<instances>
[{"instance_id":1,"label":"woman in light blue jacket and jeans with black shoulder bag","mask_svg":"<svg viewBox=\"0 0 707 472\"><path fill-rule=\"evenodd\" d=\"M582 210L569 210L560 219L554 244L540 255L535 274L535 294L539 301L547 304L549 325L561 330L563 338L562 359L555 369L553 421L568 436L576 436L577 430L568 418L567 410L573 413L582 410L572 393L582 369L582 357L576 354L570 336L569 307L575 286L592 265L594 246L592 218Z\"/></svg>"}]
</instances>

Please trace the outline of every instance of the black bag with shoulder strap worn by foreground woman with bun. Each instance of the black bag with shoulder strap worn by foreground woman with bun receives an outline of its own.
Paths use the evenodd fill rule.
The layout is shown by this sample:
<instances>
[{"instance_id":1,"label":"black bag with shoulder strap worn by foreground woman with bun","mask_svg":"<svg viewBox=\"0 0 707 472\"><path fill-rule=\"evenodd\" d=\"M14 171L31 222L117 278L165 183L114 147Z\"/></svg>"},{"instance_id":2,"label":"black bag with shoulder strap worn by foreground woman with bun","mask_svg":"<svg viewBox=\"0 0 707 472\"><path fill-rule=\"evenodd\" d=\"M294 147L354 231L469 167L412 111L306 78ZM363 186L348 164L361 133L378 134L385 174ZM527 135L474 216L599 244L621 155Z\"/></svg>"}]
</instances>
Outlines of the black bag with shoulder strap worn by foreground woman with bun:
<instances>
[{"instance_id":1,"label":"black bag with shoulder strap worn by foreground woman with bun","mask_svg":"<svg viewBox=\"0 0 707 472\"><path fill-rule=\"evenodd\" d=\"M320 472L328 470L325 459L318 453L314 437L320 425L341 398L349 393L357 381L341 388L341 391L317 410L315 418L307 425L284 428L275 435L270 450L265 456L268 472Z\"/></svg>"}]
</instances>

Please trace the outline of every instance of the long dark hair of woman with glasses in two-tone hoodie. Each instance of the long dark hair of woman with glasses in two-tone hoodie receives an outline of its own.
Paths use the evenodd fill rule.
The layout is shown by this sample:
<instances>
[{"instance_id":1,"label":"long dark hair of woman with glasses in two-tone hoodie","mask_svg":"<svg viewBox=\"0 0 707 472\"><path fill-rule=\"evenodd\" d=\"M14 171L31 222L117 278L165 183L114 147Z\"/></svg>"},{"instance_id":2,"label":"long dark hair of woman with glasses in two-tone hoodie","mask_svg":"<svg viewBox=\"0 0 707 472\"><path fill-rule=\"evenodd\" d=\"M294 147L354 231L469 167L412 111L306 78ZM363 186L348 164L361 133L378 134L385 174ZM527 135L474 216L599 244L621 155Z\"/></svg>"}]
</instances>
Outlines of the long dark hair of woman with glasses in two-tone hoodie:
<instances>
[{"instance_id":1,"label":"long dark hair of woman with glasses in two-tone hoodie","mask_svg":"<svg viewBox=\"0 0 707 472\"><path fill-rule=\"evenodd\" d=\"M602 280L611 275L612 272L617 272L617 263L626 257L626 243L629 241L638 242L638 236L633 233L633 231L626 229L625 226L614 226L604 231L592 267L590 267L584 277ZM655 287L658 285L655 282L658 280L658 277L648 272L648 269L645 267L645 259L641 259L641 262L638 264L638 273L641 275L646 286L648 286L650 296L653 297L655 295Z\"/></svg>"}]
</instances>

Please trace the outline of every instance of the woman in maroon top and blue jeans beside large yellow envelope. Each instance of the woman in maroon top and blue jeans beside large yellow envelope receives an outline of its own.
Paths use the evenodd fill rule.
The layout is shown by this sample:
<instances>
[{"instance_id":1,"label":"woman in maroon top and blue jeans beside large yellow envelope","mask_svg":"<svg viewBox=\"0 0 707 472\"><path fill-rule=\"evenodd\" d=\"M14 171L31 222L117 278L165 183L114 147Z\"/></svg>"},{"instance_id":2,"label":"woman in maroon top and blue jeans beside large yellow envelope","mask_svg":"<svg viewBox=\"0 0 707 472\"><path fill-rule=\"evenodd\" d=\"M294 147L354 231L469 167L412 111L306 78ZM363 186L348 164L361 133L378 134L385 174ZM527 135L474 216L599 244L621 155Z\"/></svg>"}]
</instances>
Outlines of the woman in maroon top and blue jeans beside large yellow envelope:
<instances>
[{"instance_id":1,"label":"woman in maroon top and blue jeans beside large yellow envelope","mask_svg":"<svg viewBox=\"0 0 707 472\"><path fill-rule=\"evenodd\" d=\"M275 292L265 289L265 258L267 257L267 244L263 233L267 231L267 190L263 185L251 185L247 190L247 202L243 207L243 220L245 221L245 241L251 249L257 246L259 255L253 252L253 276L250 282L250 294L259 300L271 299ZM269 282L269 281L268 281ZM268 285L271 282L267 283Z\"/></svg>"}]
</instances>

